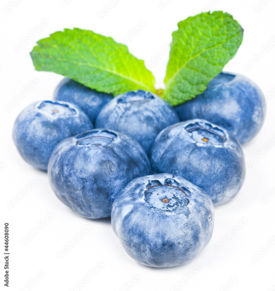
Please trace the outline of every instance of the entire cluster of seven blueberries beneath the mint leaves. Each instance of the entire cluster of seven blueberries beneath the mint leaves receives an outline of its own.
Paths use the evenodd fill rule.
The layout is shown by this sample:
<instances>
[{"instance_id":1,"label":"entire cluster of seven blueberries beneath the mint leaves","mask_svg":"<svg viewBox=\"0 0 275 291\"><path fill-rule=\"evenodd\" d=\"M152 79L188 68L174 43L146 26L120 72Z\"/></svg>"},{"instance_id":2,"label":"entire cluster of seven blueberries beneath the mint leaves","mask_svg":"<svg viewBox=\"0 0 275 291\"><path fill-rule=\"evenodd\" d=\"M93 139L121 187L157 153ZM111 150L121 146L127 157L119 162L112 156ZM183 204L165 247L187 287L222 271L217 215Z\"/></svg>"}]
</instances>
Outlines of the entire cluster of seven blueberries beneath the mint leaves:
<instances>
[{"instance_id":1,"label":"entire cluster of seven blueberries beneath the mint leaves","mask_svg":"<svg viewBox=\"0 0 275 291\"><path fill-rule=\"evenodd\" d=\"M54 101L19 114L12 136L65 205L90 219L111 216L132 258L171 267L209 243L214 205L245 179L240 143L264 117L263 93L236 74L221 73L175 108L148 91L113 97L64 79Z\"/></svg>"}]
</instances>

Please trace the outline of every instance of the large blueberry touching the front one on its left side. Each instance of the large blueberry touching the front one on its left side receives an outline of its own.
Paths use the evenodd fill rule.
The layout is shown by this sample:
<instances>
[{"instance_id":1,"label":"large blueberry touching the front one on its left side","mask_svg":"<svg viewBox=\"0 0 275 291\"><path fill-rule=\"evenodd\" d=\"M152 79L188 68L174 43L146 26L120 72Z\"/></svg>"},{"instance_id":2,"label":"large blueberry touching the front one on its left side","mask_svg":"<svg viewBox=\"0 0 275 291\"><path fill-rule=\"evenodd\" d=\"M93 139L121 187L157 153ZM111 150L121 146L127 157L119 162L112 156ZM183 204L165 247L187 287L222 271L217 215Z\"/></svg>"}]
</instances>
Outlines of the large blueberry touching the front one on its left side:
<instances>
[{"instance_id":1,"label":"large blueberry touching the front one on its left side","mask_svg":"<svg viewBox=\"0 0 275 291\"><path fill-rule=\"evenodd\" d=\"M53 151L48 166L56 196L87 218L110 216L118 192L150 171L149 159L136 140L107 129L65 139Z\"/></svg>"}]
</instances>

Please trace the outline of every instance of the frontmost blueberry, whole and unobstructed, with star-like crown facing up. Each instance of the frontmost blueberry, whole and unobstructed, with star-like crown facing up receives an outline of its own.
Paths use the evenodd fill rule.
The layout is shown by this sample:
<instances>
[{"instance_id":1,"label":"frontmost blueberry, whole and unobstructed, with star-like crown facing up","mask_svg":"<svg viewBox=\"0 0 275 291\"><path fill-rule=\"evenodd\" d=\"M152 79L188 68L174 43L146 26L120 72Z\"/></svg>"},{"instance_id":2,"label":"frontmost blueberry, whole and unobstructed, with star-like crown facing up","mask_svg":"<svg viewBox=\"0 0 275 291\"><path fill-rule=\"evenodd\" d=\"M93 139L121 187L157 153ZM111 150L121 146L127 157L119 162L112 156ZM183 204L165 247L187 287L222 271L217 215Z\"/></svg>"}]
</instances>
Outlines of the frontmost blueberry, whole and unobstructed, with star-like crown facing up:
<instances>
[{"instance_id":1,"label":"frontmost blueberry, whole and unobstructed, with star-like crown facing up","mask_svg":"<svg viewBox=\"0 0 275 291\"><path fill-rule=\"evenodd\" d=\"M136 178L116 196L112 227L125 251L141 264L172 267L209 243L214 206L202 189L178 175Z\"/></svg>"}]
</instances>

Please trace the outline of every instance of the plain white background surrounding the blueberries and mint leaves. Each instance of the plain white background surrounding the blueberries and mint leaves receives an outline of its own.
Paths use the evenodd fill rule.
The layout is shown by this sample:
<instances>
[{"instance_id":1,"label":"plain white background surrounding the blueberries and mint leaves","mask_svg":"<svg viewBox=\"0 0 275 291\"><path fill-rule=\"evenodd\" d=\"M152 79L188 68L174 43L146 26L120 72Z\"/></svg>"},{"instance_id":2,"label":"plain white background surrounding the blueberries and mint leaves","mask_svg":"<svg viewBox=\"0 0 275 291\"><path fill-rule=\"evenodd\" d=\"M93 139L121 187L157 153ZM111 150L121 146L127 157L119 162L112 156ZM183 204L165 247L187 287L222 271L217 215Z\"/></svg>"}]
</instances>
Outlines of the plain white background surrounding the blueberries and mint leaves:
<instances>
[{"instance_id":1,"label":"plain white background surrounding the blueberries and mint leaves","mask_svg":"<svg viewBox=\"0 0 275 291\"><path fill-rule=\"evenodd\" d=\"M5 222L10 223L9 290L69 291L75 290L75 285L85 278L87 282L80 290L275 290L275 245L270 241L275 237L275 195L270 192L273 189L275 193L275 96L272 94L275 45L271 44L272 38L275 40L275 3L262 1L263 7L256 9L258 0L170 0L163 7L159 6L161 0L117 0L103 17L99 13L103 13L111 0L67 3L20 0L8 13L3 10L12 6L12 1L1 1L1 290ZM122 42L143 22L145 26L130 37L127 45L132 54L145 60L156 78L156 87L161 88L168 61L167 44L172 31L177 29L177 22L209 10L209 5L212 5L211 11L231 13L245 29L243 43L225 70L246 75L260 86L265 96L269 94L267 116L260 133L243 146L247 166L245 183L236 198L216 207L214 233L206 249L186 265L164 269L146 267L125 253L112 231L110 219L89 220L78 216L55 197L47 174L26 164L19 156L11 139L15 118L28 104L51 100L62 79L54 73L35 71L29 52L37 40L64 28L89 29ZM46 26L34 33L44 20L48 22ZM16 47L30 34L33 38L17 52ZM269 50L264 52L263 47L269 43ZM166 53L150 68L149 63L163 49ZM246 67L259 53L262 55L258 61L251 68ZM32 79L36 79L36 84L25 94L23 90ZM19 94L23 97L7 110ZM269 149L267 143L272 145ZM26 185L35 181L35 177L38 179L27 190ZM9 207L8 203L23 190L24 196ZM268 193L270 198L263 204L261 199ZM48 213L53 216L49 220ZM241 226L242 220L245 223ZM38 232L23 245L22 241L35 228ZM81 231L85 235L78 239ZM223 237L230 235L224 243ZM76 243L59 258L58 253L72 240ZM260 250L265 246L267 249L261 255ZM252 262L257 253L261 257ZM196 267L197 272L193 272ZM94 275L89 273L91 270ZM227 284L226 289L223 286Z\"/></svg>"}]
</instances>

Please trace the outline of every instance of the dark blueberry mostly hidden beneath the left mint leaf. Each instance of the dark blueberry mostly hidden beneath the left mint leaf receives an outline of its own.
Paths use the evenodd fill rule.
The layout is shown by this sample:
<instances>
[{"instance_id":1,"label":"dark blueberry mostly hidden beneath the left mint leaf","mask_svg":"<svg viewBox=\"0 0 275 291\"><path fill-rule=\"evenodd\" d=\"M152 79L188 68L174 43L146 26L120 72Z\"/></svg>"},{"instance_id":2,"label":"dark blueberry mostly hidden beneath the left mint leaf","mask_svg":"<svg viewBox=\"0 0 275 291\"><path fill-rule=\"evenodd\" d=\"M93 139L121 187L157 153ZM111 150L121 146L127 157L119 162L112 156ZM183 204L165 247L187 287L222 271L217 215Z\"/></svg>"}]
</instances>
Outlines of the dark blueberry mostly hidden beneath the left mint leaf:
<instances>
[{"instance_id":1,"label":"dark blueberry mostly hidden beneath the left mint leaf","mask_svg":"<svg viewBox=\"0 0 275 291\"><path fill-rule=\"evenodd\" d=\"M92 123L96 121L99 111L112 97L112 94L98 92L68 78L64 78L60 82L53 94L54 100L78 105L88 115Z\"/></svg>"}]
</instances>

